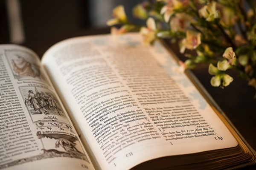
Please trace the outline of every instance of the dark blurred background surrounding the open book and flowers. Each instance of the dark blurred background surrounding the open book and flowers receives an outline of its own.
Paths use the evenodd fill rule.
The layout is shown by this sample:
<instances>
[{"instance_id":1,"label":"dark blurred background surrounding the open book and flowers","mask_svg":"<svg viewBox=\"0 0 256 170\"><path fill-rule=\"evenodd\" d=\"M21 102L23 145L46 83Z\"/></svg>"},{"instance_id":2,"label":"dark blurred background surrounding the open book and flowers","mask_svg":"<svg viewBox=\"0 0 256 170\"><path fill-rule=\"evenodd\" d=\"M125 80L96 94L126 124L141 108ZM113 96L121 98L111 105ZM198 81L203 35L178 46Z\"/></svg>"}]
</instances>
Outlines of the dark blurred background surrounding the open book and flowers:
<instances>
[{"instance_id":1,"label":"dark blurred background surrounding the open book and flowers","mask_svg":"<svg viewBox=\"0 0 256 170\"><path fill-rule=\"evenodd\" d=\"M40 57L56 42L91 34L110 33L106 21L111 19L111 11L117 5L125 5L130 20L131 8L138 0L13 0L19 6L23 32L22 40L13 40L7 1L0 0L0 43L16 43L33 49ZM10 0L11 1L11 0ZM180 59L177 45L171 45ZM196 77L209 92L215 102L226 113L233 125L247 142L256 150L256 89L247 85L236 72L231 72L234 81L226 88L214 88L210 85L212 76L208 66L200 65L193 70ZM248 167L244 169L256 169Z\"/></svg>"}]
</instances>

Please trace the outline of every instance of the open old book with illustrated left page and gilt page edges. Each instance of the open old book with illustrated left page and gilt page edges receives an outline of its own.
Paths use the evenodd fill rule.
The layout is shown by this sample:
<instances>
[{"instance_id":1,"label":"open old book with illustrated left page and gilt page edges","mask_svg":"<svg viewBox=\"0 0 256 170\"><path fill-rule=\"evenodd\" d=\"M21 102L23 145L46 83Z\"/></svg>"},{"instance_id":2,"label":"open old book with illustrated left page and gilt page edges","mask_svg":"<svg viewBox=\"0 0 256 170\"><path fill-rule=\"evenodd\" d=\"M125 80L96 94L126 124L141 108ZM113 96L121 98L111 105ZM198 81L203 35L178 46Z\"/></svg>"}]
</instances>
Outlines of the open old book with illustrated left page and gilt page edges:
<instances>
[{"instance_id":1,"label":"open old book with illustrated left page and gilt page edges","mask_svg":"<svg viewBox=\"0 0 256 170\"><path fill-rule=\"evenodd\" d=\"M0 45L0 169L224 169L255 164L195 78L138 33L76 37L39 60Z\"/></svg>"}]
</instances>

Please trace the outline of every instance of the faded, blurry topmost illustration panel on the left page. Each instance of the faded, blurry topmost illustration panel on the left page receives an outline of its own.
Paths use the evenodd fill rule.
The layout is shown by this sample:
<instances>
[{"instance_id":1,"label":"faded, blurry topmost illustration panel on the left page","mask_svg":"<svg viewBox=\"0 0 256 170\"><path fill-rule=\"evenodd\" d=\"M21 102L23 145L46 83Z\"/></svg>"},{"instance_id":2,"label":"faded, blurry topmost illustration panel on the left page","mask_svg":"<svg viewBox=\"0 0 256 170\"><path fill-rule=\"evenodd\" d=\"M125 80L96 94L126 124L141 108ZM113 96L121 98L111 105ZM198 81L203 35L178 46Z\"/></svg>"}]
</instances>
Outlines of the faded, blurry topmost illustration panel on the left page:
<instances>
[{"instance_id":1,"label":"faded, blurry topmost illustration panel on the left page","mask_svg":"<svg viewBox=\"0 0 256 170\"><path fill-rule=\"evenodd\" d=\"M15 79L43 79L38 60L28 51L6 50L5 54Z\"/></svg>"}]
</instances>

